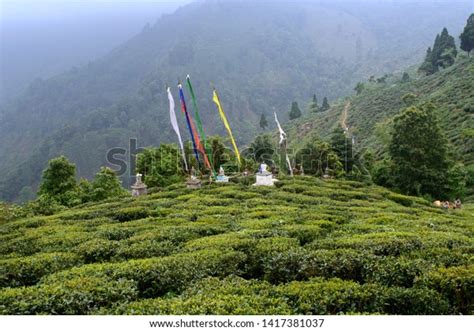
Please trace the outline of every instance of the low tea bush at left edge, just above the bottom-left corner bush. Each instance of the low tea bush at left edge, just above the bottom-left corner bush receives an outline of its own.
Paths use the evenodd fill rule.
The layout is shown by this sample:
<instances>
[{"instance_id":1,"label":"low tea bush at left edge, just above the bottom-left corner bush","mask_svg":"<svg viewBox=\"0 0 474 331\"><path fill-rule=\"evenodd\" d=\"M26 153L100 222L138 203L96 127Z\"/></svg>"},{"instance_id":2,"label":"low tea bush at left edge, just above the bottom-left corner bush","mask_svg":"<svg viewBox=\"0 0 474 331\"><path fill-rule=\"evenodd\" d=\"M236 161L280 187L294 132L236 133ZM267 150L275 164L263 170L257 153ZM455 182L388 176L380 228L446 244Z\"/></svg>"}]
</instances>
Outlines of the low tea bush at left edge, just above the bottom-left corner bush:
<instances>
[{"instance_id":1,"label":"low tea bush at left edge, just above the bottom-left corner bush","mask_svg":"<svg viewBox=\"0 0 474 331\"><path fill-rule=\"evenodd\" d=\"M40 253L0 260L0 287L36 284L41 277L81 264L73 253Z\"/></svg>"}]
</instances>

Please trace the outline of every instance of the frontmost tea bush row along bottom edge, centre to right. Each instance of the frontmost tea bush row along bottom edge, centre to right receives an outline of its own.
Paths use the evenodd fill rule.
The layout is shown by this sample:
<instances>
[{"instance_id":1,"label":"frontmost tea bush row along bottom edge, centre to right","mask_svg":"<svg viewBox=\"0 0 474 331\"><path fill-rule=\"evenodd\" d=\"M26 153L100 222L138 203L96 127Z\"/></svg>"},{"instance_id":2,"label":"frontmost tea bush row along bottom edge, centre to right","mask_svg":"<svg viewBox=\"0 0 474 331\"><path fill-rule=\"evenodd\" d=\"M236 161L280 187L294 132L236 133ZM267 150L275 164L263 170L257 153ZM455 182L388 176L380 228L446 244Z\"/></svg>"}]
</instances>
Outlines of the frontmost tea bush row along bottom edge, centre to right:
<instances>
[{"instance_id":1,"label":"frontmost tea bush row along bottom edge, centre to right","mask_svg":"<svg viewBox=\"0 0 474 331\"><path fill-rule=\"evenodd\" d=\"M238 277L204 279L183 294L119 304L104 314L322 315L340 313L447 314L448 302L434 290L359 285L339 279L271 285Z\"/></svg>"}]
</instances>

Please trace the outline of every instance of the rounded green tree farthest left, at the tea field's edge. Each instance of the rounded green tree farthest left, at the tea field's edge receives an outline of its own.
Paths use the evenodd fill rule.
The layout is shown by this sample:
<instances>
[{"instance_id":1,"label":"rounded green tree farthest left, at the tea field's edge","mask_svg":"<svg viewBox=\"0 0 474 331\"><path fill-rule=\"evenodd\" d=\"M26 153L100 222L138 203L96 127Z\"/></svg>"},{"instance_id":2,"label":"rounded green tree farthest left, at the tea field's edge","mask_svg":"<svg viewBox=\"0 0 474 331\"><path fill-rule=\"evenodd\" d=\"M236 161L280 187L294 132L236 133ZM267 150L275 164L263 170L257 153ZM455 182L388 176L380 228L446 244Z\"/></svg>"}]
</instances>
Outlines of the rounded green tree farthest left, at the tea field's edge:
<instances>
[{"instance_id":1,"label":"rounded green tree farthest left, at the tea field's edge","mask_svg":"<svg viewBox=\"0 0 474 331\"><path fill-rule=\"evenodd\" d=\"M75 188L76 166L65 156L50 160L43 172L39 195L48 195L61 201L62 195L74 191Z\"/></svg>"}]
</instances>

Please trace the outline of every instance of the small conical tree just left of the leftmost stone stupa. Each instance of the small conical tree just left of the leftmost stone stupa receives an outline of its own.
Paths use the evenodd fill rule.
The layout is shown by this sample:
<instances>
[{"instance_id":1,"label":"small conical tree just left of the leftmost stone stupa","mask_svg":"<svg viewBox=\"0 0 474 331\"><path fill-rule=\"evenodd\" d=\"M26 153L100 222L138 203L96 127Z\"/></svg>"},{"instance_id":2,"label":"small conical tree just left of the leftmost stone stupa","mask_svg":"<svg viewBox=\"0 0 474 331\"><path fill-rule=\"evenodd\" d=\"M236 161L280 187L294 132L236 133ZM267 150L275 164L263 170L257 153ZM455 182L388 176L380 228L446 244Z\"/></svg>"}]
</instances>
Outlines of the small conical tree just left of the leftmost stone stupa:
<instances>
[{"instance_id":1,"label":"small conical tree just left of the leftmost stone stupa","mask_svg":"<svg viewBox=\"0 0 474 331\"><path fill-rule=\"evenodd\" d=\"M92 201L100 201L126 194L115 171L101 167L92 182Z\"/></svg>"}]
</instances>

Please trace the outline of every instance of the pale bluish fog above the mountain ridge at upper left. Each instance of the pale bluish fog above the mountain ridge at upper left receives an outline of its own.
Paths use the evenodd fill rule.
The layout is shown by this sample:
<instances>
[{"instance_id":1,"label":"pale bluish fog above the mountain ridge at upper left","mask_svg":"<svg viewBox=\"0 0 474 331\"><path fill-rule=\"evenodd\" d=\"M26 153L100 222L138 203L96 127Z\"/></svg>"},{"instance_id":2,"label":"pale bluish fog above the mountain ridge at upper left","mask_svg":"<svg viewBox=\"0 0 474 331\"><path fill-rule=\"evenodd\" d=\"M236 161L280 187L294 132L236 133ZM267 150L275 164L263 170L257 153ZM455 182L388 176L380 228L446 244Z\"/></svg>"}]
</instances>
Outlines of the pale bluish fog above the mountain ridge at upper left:
<instances>
[{"instance_id":1,"label":"pale bluish fog above the mountain ridge at upper left","mask_svg":"<svg viewBox=\"0 0 474 331\"><path fill-rule=\"evenodd\" d=\"M0 102L106 54L190 0L33 1L0 3Z\"/></svg>"}]
</instances>

